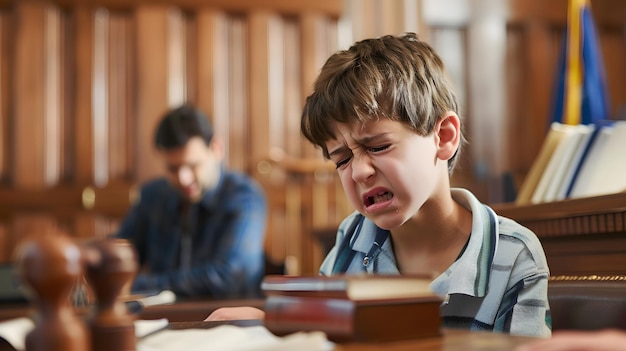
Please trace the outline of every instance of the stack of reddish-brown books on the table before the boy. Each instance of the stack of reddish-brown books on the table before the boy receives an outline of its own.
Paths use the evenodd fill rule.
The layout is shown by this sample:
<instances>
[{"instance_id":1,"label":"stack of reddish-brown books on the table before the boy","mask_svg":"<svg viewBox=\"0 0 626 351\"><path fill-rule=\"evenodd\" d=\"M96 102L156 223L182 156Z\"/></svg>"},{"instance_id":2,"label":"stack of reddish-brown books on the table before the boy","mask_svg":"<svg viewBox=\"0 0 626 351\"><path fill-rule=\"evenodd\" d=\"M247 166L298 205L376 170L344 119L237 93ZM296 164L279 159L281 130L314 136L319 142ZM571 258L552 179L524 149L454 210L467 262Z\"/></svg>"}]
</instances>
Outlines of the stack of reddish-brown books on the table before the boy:
<instances>
[{"instance_id":1,"label":"stack of reddish-brown books on the table before the boy","mask_svg":"<svg viewBox=\"0 0 626 351\"><path fill-rule=\"evenodd\" d=\"M441 298L411 276L266 276L265 327L276 335L323 331L334 342L440 335Z\"/></svg>"}]
</instances>

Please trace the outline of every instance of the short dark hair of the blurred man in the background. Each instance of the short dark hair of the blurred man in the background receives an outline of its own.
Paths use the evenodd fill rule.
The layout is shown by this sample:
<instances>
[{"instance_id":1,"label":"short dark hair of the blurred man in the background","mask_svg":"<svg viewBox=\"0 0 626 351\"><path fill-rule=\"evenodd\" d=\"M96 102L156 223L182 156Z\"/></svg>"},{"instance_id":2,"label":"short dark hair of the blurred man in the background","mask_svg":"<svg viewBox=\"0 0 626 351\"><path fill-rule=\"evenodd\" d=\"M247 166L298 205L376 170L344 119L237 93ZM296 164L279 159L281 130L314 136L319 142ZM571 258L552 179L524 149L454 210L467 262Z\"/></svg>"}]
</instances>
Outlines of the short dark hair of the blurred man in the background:
<instances>
[{"instance_id":1,"label":"short dark hair of the blurred man in the background","mask_svg":"<svg viewBox=\"0 0 626 351\"><path fill-rule=\"evenodd\" d=\"M197 136L209 145L213 139L213 127L202 111L184 104L163 116L154 135L154 144L157 149L176 149Z\"/></svg>"}]
</instances>

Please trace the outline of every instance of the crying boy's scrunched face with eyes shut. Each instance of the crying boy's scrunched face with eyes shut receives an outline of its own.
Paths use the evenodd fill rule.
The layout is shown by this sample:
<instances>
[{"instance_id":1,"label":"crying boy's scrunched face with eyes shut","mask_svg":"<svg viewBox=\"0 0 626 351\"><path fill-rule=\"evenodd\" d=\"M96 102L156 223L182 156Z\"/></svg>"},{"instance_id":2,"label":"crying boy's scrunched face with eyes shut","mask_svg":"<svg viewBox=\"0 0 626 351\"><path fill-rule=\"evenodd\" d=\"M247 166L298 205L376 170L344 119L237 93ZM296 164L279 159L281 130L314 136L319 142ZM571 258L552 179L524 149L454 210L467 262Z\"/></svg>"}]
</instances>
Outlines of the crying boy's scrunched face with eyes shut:
<instances>
[{"instance_id":1,"label":"crying boy's scrunched face with eyes shut","mask_svg":"<svg viewBox=\"0 0 626 351\"><path fill-rule=\"evenodd\" d=\"M448 173L447 158L441 158L440 124L427 136L385 118L364 125L335 124L336 139L326 147L355 209L390 230L417 216L438 189L449 187L442 182Z\"/></svg>"}]
</instances>

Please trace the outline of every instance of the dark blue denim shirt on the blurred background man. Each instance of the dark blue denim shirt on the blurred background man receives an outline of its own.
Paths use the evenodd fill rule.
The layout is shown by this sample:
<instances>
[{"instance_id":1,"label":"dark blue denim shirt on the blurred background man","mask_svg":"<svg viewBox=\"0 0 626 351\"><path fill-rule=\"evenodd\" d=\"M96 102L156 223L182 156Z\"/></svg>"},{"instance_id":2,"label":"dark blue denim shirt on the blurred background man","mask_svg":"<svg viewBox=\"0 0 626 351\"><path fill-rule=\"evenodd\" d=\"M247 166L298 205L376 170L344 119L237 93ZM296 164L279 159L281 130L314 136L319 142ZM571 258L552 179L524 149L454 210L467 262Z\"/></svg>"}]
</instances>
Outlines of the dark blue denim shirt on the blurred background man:
<instances>
[{"instance_id":1,"label":"dark blue denim shirt on the blurred background man","mask_svg":"<svg viewBox=\"0 0 626 351\"><path fill-rule=\"evenodd\" d=\"M223 170L219 184L183 215L183 199L166 179L141 188L117 237L130 240L140 271L132 292L171 290L178 296L260 296L267 203L246 175ZM192 223L189 225L189 223ZM190 257L181 266L189 230Z\"/></svg>"}]
</instances>

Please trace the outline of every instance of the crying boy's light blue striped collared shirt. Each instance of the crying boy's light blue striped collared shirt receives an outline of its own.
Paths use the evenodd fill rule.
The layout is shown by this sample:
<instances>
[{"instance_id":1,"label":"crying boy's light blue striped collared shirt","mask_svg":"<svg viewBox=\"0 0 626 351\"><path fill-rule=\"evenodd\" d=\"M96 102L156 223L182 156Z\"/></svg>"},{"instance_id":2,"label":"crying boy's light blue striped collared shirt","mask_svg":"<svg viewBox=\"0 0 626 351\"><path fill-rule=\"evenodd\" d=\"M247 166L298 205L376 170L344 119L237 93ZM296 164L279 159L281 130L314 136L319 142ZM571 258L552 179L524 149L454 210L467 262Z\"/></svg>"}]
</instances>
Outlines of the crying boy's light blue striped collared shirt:
<instances>
[{"instance_id":1,"label":"crying boy's light blue striped collared shirt","mask_svg":"<svg viewBox=\"0 0 626 351\"><path fill-rule=\"evenodd\" d=\"M465 189L452 189L452 197L472 212L472 232L459 258L431 283L444 299L443 327L550 336L549 270L539 239ZM375 244L388 232L368 219L356 225L359 218L355 212L341 223L320 274L332 275L333 267L334 274L400 274L390 240Z\"/></svg>"}]
</instances>

